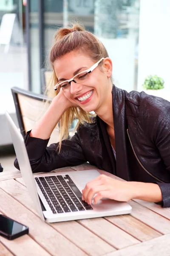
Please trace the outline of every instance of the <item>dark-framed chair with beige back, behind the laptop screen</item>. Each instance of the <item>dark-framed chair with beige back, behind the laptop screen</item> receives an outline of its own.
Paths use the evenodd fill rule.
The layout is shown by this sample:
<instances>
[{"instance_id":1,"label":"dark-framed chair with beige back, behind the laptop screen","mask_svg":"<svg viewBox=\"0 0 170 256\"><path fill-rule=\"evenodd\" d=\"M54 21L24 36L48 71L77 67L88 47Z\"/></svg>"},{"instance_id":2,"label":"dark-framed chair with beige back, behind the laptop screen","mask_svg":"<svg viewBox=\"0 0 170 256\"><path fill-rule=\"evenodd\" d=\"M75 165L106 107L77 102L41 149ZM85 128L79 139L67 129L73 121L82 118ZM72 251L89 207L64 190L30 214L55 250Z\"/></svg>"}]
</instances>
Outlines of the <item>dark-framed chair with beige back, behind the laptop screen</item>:
<instances>
[{"instance_id":1,"label":"dark-framed chair with beige back, behind the laptop screen","mask_svg":"<svg viewBox=\"0 0 170 256\"><path fill-rule=\"evenodd\" d=\"M18 87L12 87L11 91L16 108L20 132L24 137L26 132L34 128L36 122L45 113L47 109L45 107L47 97L42 94L33 93ZM59 129L54 128L48 145L58 141Z\"/></svg>"}]
</instances>

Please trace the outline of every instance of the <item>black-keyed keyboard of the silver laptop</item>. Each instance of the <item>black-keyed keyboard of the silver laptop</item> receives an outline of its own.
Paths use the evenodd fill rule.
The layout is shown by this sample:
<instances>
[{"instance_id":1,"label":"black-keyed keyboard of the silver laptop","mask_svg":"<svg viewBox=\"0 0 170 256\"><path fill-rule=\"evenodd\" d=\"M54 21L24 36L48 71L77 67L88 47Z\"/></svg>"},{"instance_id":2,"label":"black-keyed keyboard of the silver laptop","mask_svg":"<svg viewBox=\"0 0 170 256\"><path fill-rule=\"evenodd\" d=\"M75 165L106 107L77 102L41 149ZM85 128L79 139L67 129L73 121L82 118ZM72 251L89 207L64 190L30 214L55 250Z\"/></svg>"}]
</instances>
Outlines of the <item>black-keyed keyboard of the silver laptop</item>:
<instances>
[{"instance_id":1,"label":"black-keyed keyboard of the silver laptop","mask_svg":"<svg viewBox=\"0 0 170 256\"><path fill-rule=\"evenodd\" d=\"M69 175L35 177L34 179L53 213L93 209L85 201L82 201L82 193Z\"/></svg>"}]
</instances>

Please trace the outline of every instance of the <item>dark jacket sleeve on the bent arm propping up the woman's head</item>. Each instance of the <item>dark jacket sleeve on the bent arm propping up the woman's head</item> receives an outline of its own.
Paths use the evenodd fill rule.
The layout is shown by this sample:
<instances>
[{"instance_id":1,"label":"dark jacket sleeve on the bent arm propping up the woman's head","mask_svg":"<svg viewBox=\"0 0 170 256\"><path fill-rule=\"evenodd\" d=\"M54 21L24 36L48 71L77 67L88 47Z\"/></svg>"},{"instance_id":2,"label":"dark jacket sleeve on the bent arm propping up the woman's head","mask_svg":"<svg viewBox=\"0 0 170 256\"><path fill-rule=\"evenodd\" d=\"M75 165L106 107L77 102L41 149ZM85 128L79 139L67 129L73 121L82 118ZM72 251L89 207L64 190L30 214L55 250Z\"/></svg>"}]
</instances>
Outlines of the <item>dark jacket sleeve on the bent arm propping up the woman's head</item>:
<instances>
[{"instance_id":1,"label":"dark jacket sleeve on the bent arm propping up the woman's head","mask_svg":"<svg viewBox=\"0 0 170 256\"><path fill-rule=\"evenodd\" d=\"M71 140L62 141L62 147L58 153L58 143L53 143L47 147L49 139L42 140L31 137L29 135L30 132L27 132L24 141L32 172L50 172L57 168L75 166L87 162L77 133ZM20 169L17 158L14 160L14 166Z\"/></svg>"}]
</instances>

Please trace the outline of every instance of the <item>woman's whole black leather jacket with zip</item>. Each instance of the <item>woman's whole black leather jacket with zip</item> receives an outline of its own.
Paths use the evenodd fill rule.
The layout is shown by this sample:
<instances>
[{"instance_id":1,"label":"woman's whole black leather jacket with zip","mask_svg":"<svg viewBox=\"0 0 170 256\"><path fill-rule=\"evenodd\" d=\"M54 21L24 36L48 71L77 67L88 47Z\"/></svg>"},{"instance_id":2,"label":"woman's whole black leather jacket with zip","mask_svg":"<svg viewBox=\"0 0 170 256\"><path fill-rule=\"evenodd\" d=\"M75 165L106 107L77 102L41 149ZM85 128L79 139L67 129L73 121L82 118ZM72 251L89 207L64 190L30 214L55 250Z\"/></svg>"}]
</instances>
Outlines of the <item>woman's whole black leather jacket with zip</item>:
<instances>
[{"instance_id":1,"label":"woman's whole black leather jacket with zip","mask_svg":"<svg viewBox=\"0 0 170 256\"><path fill-rule=\"evenodd\" d=\"M113 121L116 160L105 122L81 125L71 140L47 147L48 140L26 134L25 143L33 172L89 162L125 180L154 182L160 186L163 207L170 207L170 102L144 92L113 85ZM14 165L19 169L17 160Z\"/></svg>"}]
</instances>

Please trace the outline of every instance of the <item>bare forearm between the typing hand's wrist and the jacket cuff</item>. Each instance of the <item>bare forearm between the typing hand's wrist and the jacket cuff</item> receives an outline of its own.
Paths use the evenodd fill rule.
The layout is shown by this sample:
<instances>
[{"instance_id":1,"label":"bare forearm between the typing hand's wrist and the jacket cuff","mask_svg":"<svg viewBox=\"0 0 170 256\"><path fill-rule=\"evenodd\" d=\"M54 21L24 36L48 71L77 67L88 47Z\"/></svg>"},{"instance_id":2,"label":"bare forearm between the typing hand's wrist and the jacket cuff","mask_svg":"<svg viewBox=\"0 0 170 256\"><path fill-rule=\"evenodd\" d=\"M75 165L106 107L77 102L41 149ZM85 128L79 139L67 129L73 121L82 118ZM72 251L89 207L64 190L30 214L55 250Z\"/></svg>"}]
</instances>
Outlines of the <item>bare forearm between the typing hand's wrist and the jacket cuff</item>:
<instances>
[{"instance_id":1,"label":"bare forearm between the typing hand's wrist and the jacket cuff","mask_svg":"<svg viewBox=\"0 0 170 256\"><path fill-rule=\"evenodd\" d=\"M158 203L162 201L161 189L157 184L132 182L133 185L133 198L141 199L144 201Z\"/></svg>"}]
</instances>

